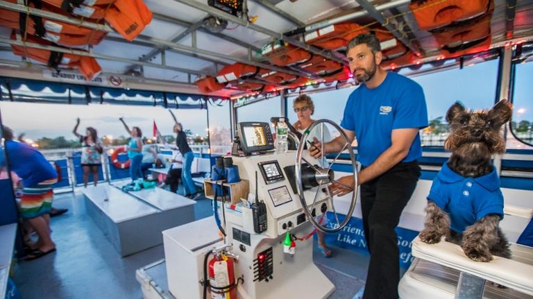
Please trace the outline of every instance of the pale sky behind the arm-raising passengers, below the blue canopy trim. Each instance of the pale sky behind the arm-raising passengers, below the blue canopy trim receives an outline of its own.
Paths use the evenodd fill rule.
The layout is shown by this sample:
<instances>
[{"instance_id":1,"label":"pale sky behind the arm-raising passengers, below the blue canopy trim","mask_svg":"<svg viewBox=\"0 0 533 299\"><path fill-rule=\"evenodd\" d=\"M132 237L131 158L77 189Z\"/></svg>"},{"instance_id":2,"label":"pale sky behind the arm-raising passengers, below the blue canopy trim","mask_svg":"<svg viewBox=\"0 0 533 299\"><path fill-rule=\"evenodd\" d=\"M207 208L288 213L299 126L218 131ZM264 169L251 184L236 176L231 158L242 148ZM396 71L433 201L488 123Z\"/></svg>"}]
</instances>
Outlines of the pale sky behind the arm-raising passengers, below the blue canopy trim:
<instances>
[{"instance_id":1,"label":"pale sky behind the arm-raising passengers, below the blue canopy trim","mask_svg":"<svg viewBox=\"0 0 533 299\"><path fill-rule=\"evenodd\" d=\"M85 133L87 126L96 128L99 139L104 146L125 144L129 138L119 122L119 117L130 126L138 126L146 139L153 139L153 123L155 121L161 135L167 142L173 144L176 135L172 127L174 120L167 109L160 106L136 106L136 105L67 105L46 103L17 103L9 101L0 102L2 123L15 130L15 134L26 133L26 138L32 139L39 148L49 148L46 144L58 144L62 138L65 147L79 147L81 144L72 134L72 128L76 123L76 117L81 118L81 126L78 133ZM185 132L188 133L190 143L198 148L208 144L207 110L203 109L170 109L178 121L184 123ZM24 115L24 117L21 117ZM31 121L28 121L31 119ZM35 126L41 123L41 126ZM55 140L55 141L54 141ZM72 143L70 143L72 142ZM58 148L58 147L55 147ZM69 150L66 148L65 150ZM194 148L193 148L194 150ZM46 157L48 155L45 153Z\"/></svg>"}]
</instances>

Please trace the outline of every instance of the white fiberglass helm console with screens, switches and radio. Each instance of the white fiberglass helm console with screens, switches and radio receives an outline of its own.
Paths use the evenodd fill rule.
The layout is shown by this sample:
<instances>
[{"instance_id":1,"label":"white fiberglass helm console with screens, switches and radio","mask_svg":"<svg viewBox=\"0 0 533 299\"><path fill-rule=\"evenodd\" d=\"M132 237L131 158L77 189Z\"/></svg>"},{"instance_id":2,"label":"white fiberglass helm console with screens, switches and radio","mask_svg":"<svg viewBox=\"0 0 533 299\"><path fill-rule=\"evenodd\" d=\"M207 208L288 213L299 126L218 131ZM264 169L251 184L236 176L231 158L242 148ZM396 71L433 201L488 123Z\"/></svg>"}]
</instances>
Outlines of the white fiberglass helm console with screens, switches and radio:
<instances>
[{"instance_id":1,"label":"white fiberglass helm console with screens, switches and radio","mask_svg":"<svg viewBox=\"0 0 533 299\"><path fill-rule=\"evenodd\" d=\"M254 129L246 131L243 130L245 127ZM270 130L265 123L240 123L240 128L240 146L237 148L234 145L234 153L239 151L241 154L250 154L250 148L261 151L272 148ZM253 142L248 142L247 135L255 138L252 139ZM304 134L303 138L305 137L307 134ZM339 223L338 217L335 217L335 225L330 223L327 226L323 222L326 211L335 211L327 188L335 180L333 171L318 166L319 161L303 151L302 146L298 147L298 151L287 153L234 155L231 158L232 169L237 166L241 180L237 184L247 184L249 194L242 194L242 197L247 197L244 201L242 198L235 198L235 194L223 203L217 198L214 200L217 203L214 207L217 209L210 230L216 232L219 225L220 231L226 232L222 242L224 246L220 246L221 240L217 234L209 234L211 237L200 242L205 246L194 247L187 246L186 241L171 237L170 232L163 232L171 293L178 299L204 298L204 293L207 293L206 298L228 298L226 295L233 293L231 298L237 296L242 299L330 296L335 291L335 286L313 264L312 234L315 228L312 222L314 225L318 223L316 226L321 230L340 230L346 225ZM229 160L225 157L224 163L226 159ZM225 181L210 181L206 184L211 184L211 189L231 188ZM208 188L205 190L207 197L210 194L207 194ZM354 206L355 201L350 213ZM216 221L217 218L220 221ZM201 221L179 228L180 231L188 232L183 239L208 235L205 233L205 222ZM290 248L287 241L291 244ZM218 249L212 250L214 247ZM203 287L207 285L205 271L209 267L205 265L210 255L232 259L233 266L228 273L231 273L229 276L234 275L235 279L223 280L225 283L222 285L228 286L223 297L220 296L221 293L217 293L217 288L226 287L220 288L221 285L217 282L214 282L217 284L214 289L213 284ZM214 277L216 276L215 274ZM214 291L214 296L210 291Z\"/></svg>"}]
</instances>

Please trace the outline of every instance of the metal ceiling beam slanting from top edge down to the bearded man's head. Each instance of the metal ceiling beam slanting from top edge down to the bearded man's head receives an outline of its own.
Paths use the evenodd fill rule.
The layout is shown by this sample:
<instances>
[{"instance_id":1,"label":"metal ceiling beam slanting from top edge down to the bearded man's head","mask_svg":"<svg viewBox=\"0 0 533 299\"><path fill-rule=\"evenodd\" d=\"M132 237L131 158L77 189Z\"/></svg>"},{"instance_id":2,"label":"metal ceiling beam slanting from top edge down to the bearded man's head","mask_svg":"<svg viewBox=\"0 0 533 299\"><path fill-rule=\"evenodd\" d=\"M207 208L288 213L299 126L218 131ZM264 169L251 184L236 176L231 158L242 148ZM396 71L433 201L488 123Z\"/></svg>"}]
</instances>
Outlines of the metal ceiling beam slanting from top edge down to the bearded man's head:
<instances>
[{"instance_id":1,"label":"metal ceiling beam slanting from top edge down to the bearded man's head","mask_svg":"<svg viewBox=\"0 0 533 299\"><path fill-rule=\"evenodd\" d=\"M276 38L277 40L282 40L285 42L288 42L289 44L292 44L294 46L298 46L298 48L305 49L306 51L310 51L311 53L314 53L316 55L321 55L325 58L328 58L330 60L334 60L336 62L340 62L343 65L346 65L346 58L344 55L341 55L340 53L334 52L334 51L326 51L323 49L319 49L316 46L311 46L310 44L305 44L305 42L301 42L299 40L296 40L291 37L287 37L286 35L283 35L283 33L277 33L276 31L271 31L268 28L264 28L262 26L258 26L256 24L248 22L248 20L243 21L239 17L235 17L234 15L230 15L227 12L223 12L222 10L219 10L217 8L213 8L211 6L208 6L206 4L203 4L198 1L189 1L189 0L174 0L179 3L183 3L186 6L190 6L192 8L196 8L198 10L202 10L204 12L208 12L210 15L214 15L215 17L220 17L222 19L226 19L229 22L233 22L235 24L239 24L241 26L245 26L247 28L250 28L253 31L257 31L259 33L263 33L265 35L269 35L273 38Z\"/></svg>"}]
</instances>

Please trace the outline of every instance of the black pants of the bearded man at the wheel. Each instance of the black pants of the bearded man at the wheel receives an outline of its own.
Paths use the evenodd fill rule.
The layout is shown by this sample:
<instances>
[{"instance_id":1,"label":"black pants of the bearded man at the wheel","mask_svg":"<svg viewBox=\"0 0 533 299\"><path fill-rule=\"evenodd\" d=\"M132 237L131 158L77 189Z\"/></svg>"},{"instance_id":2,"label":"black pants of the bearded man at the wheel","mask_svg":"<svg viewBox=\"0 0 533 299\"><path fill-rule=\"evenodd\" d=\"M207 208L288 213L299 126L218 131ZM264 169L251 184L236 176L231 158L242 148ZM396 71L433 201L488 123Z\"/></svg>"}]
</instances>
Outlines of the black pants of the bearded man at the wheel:
<instances>
[{"instance_id":1,"label":"black pants of the bearded man at the wheel","mask_svg":"<svg viewBox=\"0 0 533 299\"><path fill-rule=\"evenodd\" d=\"M370 251L364 299L398 299L400 262L394 228L420 177L418 162L398 163L361 185L364 237Z\"/></svg>"}]
</instances>

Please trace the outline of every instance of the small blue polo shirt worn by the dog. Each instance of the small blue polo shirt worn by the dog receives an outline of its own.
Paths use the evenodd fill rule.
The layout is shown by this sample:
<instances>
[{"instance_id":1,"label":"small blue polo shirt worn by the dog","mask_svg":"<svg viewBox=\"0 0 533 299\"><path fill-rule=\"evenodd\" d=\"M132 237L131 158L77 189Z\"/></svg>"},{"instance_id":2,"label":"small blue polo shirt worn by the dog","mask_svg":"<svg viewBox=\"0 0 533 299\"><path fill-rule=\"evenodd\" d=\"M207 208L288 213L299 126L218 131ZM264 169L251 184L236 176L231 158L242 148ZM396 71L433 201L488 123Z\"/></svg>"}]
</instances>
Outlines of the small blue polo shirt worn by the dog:
<instances>
[{"instance_id":1,"label":"small blue polo shirt worn by the dog","mask_svg":"<svg viewBox=\"0 0 533 299\"><path fill-rule=\"evenodd\" d=\"M464 232L488 214L498 214L503 219L503 195L495 168L479 178L464 178L446 162L433 180L428 199L450 214L455 232Z\"/></svg>"}]
</instances>

